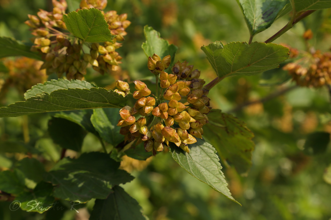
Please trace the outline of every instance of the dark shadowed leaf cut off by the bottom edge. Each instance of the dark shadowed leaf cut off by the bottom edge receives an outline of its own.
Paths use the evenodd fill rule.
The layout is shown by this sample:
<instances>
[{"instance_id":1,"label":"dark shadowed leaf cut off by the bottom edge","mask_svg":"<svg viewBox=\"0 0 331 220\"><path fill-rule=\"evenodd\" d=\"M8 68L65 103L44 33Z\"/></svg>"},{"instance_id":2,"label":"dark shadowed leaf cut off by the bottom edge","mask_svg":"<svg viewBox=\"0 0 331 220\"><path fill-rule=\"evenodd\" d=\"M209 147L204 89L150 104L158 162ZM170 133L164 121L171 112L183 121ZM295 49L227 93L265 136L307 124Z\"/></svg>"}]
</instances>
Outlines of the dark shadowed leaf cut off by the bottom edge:
<instances>
[{"instance_id":1,"label":"dark shadowed leaf cut off by the bottom edge","mask_svg":"<svg viewBox=\"0 0 331 220\"><path fill-rule=\"evenodd\" d=\"M115 186L114 192L105 200L96 200L90 220L146 220L138 202L127 194L123 188Z\"/></svg>"}]
</instances>

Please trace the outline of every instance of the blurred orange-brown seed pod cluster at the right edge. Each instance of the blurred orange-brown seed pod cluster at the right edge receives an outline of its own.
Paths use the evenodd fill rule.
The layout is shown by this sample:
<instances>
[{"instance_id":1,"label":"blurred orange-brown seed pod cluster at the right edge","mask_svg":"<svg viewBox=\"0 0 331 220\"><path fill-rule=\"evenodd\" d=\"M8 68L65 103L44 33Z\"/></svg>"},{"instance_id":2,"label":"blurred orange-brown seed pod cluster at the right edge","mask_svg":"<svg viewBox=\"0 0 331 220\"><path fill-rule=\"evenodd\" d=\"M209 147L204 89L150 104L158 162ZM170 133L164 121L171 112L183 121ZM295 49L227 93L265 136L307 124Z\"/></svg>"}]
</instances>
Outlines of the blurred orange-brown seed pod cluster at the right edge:
<instances>
[{"instance_id":1,"label":"blurred orange-brown seed pod cluster at the right edge","mask_svg":"<svg viewBox=\"0 0 331 220\"><path fill-rule=\"evenodd\" d=\"M283 69L299 86L318 88L331 84L331 53L316 51L298 62L286 64Z\"/></svg>"}]
</instances>

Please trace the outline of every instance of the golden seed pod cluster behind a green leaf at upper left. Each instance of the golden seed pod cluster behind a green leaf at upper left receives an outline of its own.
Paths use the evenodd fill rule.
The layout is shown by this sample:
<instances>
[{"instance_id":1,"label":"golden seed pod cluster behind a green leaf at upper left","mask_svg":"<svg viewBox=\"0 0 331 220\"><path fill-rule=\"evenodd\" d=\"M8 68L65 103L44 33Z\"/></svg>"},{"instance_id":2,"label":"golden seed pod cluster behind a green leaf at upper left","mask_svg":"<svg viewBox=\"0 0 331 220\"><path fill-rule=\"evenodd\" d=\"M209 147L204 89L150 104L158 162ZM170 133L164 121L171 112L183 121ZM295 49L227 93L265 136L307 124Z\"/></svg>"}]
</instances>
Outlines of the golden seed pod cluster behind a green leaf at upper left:
<instances>
[{"instance_id":1,"label":"golden seed pod cluster behind a green leaf at upper left","mask_svg":"<svg viewBox=\"0 0 331 220\"><path fill-rule=\"evenodd\" d=\"M69 40L68 36L59 29L66 30L63 15L66 15L66 0L52 0L53 11L40 10L37 15L28 15L25 21L35 36L31 50L42 53L45 60L41 66L47 74L57 73L61 77L66 74L67 79L83 79L88 64L101 74L118 70L118 63L122 57L115 50L121 47L118 41L124 40L125 29L130 25L127 14L118 15L116 11L102 12L112 35L116 35L113 42L90 45L90 54L82 54L82 42ZM97 8L103 10L107 0L82 0L80 8Z\"/></svg>"}]
</instances>

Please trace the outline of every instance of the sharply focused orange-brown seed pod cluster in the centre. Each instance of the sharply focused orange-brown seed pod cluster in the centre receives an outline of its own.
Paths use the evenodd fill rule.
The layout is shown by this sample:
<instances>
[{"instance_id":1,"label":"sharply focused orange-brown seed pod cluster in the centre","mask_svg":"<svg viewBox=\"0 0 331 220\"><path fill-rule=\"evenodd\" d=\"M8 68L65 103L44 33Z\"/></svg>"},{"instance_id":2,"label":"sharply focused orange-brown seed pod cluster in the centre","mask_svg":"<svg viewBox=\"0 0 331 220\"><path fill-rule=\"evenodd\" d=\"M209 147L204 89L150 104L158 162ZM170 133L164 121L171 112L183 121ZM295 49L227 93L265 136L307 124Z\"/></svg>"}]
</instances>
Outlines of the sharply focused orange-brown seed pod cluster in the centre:
<instances>
[{"instance_id":1,"label":"sharply focused orange-brown seed pod cluster in the centre","mask_svg":"<svg viewBox=\"0 0 331 220\"><path fill-rule=\"evenodd\" d=\"M187 65L186 61L178 61L168 74L165 70L170 61L169 55L162 59L156 54L150 56L147 67L160 79L159 90L165 91L159 97L152 94L154 98L149 96L151 90L146 84L136 80L133 97L138 100L133 107L125 106L119 112L118 126L121 127L120 133L125 135L125 141L144 142L145 150L152 151L153 155L163 151L169 142L189 152L188 145L197 142L196 138L202 138L202 127L208 123L207 114L211 110L208 91L203 89L205 81L199 79L200 71L194 70L193 65ZM135 115L136 121L132 118ZM128 119L131 124L123 123Z\"/></svg>"}]
</instances>

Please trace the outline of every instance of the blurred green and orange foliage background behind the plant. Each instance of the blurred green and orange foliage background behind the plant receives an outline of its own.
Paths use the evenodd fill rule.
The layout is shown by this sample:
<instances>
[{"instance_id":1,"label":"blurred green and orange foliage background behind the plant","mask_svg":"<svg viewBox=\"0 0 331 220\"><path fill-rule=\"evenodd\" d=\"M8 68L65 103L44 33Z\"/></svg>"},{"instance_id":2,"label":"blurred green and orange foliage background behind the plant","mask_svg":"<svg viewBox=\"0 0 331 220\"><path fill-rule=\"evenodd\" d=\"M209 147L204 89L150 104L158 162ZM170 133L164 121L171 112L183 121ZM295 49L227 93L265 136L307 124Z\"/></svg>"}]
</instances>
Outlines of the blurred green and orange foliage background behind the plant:
<instances>
[{"instance_id":1,"label":"blurred green and orange foliage background behind the plant","mask_svg":"<svg viewBox=\"0 0 331 220\"><path fill-rule=\"evenodd\" d=\"M68 0L69 9L77 8L79 1ZM23 22L27 14L35 15L38 9L51 10L46 0L0 0L0 36L10 36L29 42L32 37ZM147 58L141 49L145 41L144 25L152 26L161 36L178 47L176 59L187 60L201 70L208 83L216 74L200 47L214 41L224 44L248 41L249 31L236 1L224 0L114 0L108 1L105 11L127 13L132 23L127 28L121 67L129 79L149 77ZM311 46L321 51L331 46L331 11L320 10L295 25L274 43L286 43L299 50L305 49L302 35L311 28ZM265 41L287 21L278 19L269 29L259 33L253 41ZM125 75L124 74L124 75ZM50 76L49 79L55 76ZM122 76L117 76L122 77ZM100 87L114 86L113 76L101 76L92 71L86 80ZM155 220L330 220L331 185L323 180L323 172L331 163L330 146L325 152L311 155L304 151L309 133L331 132L330 94L326 88L294 88L277 97L240 107L270 93L293 86L287 73L280 69L252 77L229 77L214 87L209 97L213 108L234 114L247 123L254 134L256 148L253 166L245 176L233 168L223 167L229 189L242 206L227 200L208 185L199 182L174 162L169 153L162 152L146 163L125 158L122 167L137 178L123 187L144 209L144 214ZM1 100L1 106L23 100L23 94L10 88ZM237 107L239 106L239 108ZM15 153L22 146L40 154L50 168L60 158L61 149L47 133L48 114L1 118L0 140L10 145L12 152L0 146L0 170L10 169L21 159ZM25 130L25 131L24 131ZM24 132L29 140L23 143ZM26 135L26 133L25 133ZM101 145L93 134L83 143L83 152L100 150ZM147 166L148 164L148 166ZM86 219L88 213L79 215L70 211L44 214L9 210L10 202L0 202L0 219ZM82 205L85 206L85 205ZM91 210L93 201L86 204ZM82 209L86 210L86 209ZM84 215L85 213L85 215Z\"/></svg>"}]
</instances>

